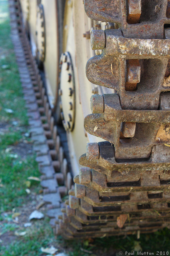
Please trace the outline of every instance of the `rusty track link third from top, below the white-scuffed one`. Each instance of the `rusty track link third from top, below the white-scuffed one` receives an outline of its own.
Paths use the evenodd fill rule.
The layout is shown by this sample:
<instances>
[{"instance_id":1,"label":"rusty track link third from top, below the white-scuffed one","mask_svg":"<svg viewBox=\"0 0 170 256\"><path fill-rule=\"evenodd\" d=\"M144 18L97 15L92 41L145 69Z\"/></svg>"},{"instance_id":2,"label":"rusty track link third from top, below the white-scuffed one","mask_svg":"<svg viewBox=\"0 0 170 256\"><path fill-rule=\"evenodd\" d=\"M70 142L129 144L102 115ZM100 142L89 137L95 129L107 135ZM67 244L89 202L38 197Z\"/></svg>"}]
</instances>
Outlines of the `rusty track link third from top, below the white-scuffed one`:
<instances>
[{"instance_id":1,"label":"rusty track link third from top, below the white-scuffed one","mask_svg":"<svg viewBox=\"0 0 170 256\"><path fill-rule=\"evenodd\" d=\"M166 96L168 102L169 94ZM85 117L85 130L113 143L116 158L148 158L159 127L162 123L165 125L170 123L170 110L122 110L117 94L105 94L104 108L102 107L104 112L96 114L95 104L98 104L98 101L96 103L94 98L98 99L98 97L97 94L92 95L91 105L95 114ZM122 122L128 122L131 130L126 129L127 131L122 130L122 132L124 137L131 137L130 140L120 140ZM126 127L126 123L123 127ZM89 159L88 151L86 155Z\"/></svg>"}]
</instances>

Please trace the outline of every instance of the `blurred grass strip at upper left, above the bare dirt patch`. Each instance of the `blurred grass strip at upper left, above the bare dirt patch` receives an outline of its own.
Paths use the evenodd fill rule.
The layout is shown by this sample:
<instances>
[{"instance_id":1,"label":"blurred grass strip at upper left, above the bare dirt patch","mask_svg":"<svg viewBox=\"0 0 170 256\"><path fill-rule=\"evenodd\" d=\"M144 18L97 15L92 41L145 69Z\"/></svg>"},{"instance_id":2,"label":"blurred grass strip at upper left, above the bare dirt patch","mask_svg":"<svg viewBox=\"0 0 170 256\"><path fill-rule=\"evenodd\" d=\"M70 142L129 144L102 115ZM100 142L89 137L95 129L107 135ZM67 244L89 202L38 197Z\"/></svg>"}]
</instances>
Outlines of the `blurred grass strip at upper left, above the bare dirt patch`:
<instances>
[{"instance_id":1,"label":"blurred grass strip at upper left, above the bare dirt patch","mask_svg":"<svg viewBox=\"0 0 170 256\"><path fill-rule=\"evenodd\" d=\"M0 1L0 10L8 11L6 1ZM2 12L1 12L2 14ZM19 121L20 125L27 125L26 108L21 83L19 80L18 66L13 52L10 38L10 24L8 16L0 17L0 115L1 120ZM8 114L5 108L12 109Z\"/></svg>"}]
</instances>

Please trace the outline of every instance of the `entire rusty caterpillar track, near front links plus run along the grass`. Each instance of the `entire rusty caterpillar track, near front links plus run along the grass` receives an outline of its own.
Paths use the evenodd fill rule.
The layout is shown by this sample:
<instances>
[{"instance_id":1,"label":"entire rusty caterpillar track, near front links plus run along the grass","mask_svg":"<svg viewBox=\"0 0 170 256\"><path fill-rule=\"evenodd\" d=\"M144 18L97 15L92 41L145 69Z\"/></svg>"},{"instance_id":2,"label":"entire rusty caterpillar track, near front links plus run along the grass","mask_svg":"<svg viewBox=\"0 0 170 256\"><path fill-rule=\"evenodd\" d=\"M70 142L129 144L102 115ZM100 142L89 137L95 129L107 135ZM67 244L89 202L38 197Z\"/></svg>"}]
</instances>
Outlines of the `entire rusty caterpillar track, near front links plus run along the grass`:
<instances>
[{"instance_id":1,"label":"entire rusty caterpillar track, near front links plus run along the grass","mask_svg":"<svg viewBox=\"0 0 170 256\"><path fill-rule=\"evenodd\" d=\"M51 140L54 146L53 151L47 149L42 154L39 144L37 160L42 161L42 185L48 188L44 190L48 193L44 200L51 203L48 215L56 235L67 239L126 234L139 237L140 233L170 227L170 4L167 0L158 2L155 7L144 1L141 9L140 1L129 0L126 5L124 0L84 0L90 18L119 25L119 29L91 31L92 49L103 52L86 66L89 81L113 88L117 93L91 97L92 114L85 117L85 130L107 141L87 144L86 154L80 157L80 164L85 167L74 177L75 186L69 190L65 204L61 203L58 196L62 193L58 191L63 189L65 193L69 186L63 188L56 183L57 174L66 178L63 157L57 151L59 147L54 146L57 128L36 63L30 57L21 18L18 19L26 56L31 58L28 65L33 65L33 77L37 74L33 88L35 92L35 88L40 89L39 94L36 92L36 111L39 109L41 120L47 121L43 125L45 140ZM144 14L147 9L150 12ZM30 96L25 97L29 104ZM30 116L34 123L34 114ZM36 127L33 132L37 136ZM58 160L52 161L54 155ZM50 164L46 164L45 156ZM48 175L50 170L52 176ZM61 215L59 207L63 207Z\"/></svg>"}]
</instances>

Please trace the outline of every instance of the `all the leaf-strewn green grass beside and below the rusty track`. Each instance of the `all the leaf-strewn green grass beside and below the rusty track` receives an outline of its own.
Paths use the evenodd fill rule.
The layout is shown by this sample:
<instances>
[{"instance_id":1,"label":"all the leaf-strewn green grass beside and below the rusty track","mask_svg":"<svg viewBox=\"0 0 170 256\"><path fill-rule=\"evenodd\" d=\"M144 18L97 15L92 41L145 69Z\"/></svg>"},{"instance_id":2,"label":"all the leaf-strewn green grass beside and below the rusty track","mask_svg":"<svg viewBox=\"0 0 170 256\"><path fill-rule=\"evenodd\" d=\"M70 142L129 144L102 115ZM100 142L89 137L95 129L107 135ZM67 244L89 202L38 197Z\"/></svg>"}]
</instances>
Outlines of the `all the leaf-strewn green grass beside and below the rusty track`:
<instances>
[{"instance_id":1,"label":"all the leaf-strewn green grass beside and below the rusty track","mask_svg":"<svg viewBox=\"0 0 170 256\"><path fill-rule=\"evenodd\" d=\"M25 137L28 129L25 102L19 81L18 67L15 61L10 39L7 1L0 0L0 235L12 234L17 230L26 235L14 237L4 246L0 241L0 255L3 256L39 256L41 246L53 244L60 251L70 256L113 255L114 252L167 251L170 253L170 231L165 228L153 234L142 234L137 237L103 237L76 241L55 239L48 218L33 221L29 228L14 223L12 213L26 207L32 198L26 194L27 178L39 177L35 156L22 159L15 157L15 152L8 151L20 142L29 144ZM11 109L8 113L5 109ZM38 185L38 187L37 187ZM31 183L31 193L39 194L39 183ZM14 209L15 208L15 209ZM1 237L0 237L1 238Z\"/></svg>"}]
</instances>

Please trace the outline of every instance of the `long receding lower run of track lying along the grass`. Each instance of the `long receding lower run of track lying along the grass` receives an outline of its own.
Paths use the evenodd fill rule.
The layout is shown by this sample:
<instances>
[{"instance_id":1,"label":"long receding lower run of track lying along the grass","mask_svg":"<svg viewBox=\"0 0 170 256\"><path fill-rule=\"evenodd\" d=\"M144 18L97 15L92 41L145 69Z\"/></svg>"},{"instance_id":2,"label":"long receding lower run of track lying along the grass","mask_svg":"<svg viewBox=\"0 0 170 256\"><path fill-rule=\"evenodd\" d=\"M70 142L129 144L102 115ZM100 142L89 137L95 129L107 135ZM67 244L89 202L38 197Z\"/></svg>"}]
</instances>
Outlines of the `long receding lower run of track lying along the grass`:
<instances>
[{"instance_id":1,"label":"long receding lower run of track lying along the grass","mask_svg":"<svg viewBox=\"0 0 170 256\"><path fill-rule=\"evenodd\" d=\"M55 125L38 65L32 56L28 35L23 27L18 0L9 0L11 37L28 111L33 150L42 173L43 200L55 232L55 220L61 215L63 197L73 188L65 131Z\"/></svg>"}]
</instances>

